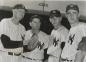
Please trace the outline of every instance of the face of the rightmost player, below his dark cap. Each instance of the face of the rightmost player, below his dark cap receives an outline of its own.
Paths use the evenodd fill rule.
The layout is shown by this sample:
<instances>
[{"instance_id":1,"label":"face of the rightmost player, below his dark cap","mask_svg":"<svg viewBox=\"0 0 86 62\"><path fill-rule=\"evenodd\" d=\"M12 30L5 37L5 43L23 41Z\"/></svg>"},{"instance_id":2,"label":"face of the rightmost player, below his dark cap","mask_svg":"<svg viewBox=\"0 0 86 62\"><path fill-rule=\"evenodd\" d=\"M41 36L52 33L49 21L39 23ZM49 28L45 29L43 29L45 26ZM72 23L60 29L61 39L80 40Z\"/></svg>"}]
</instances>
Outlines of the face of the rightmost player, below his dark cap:
<instances>
[{"instance_id":1,"label":"face of the rightmost player, below his dark cap","mask_svg":"<svg viewBox=\"0 0 86 62\"><path fill-rule=\"evenodd\" d=\"M70 24L74 24L75 22L77 22L79 15L78 11L70 9L67 11L66 16Z\"/></svg>"}]
</instances>

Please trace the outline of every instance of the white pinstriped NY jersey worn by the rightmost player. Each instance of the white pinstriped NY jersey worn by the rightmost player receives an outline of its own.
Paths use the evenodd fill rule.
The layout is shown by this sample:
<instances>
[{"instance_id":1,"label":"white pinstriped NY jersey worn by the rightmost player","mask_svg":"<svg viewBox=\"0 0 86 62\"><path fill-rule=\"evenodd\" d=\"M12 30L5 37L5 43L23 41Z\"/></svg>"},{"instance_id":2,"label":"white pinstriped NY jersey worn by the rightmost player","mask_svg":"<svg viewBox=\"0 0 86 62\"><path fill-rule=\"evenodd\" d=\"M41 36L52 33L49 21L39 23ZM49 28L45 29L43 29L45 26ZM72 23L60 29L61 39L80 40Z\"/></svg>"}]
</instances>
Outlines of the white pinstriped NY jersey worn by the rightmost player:
<instances>
[{"instance_id":1,"label":"white pinstriped NY jersey worn by the rightmost player","mask_svg":"<svg viewBox=\"0 0 86 62\"><path fill-rule=\"evenodd\" d=\"M67 59L67 61L74 62L75 55L78 52L78 44L84 36L86 36L86 24L79 22L70 29L68 41L62 51L61 57Z\"/></svg>"}]
</instances>

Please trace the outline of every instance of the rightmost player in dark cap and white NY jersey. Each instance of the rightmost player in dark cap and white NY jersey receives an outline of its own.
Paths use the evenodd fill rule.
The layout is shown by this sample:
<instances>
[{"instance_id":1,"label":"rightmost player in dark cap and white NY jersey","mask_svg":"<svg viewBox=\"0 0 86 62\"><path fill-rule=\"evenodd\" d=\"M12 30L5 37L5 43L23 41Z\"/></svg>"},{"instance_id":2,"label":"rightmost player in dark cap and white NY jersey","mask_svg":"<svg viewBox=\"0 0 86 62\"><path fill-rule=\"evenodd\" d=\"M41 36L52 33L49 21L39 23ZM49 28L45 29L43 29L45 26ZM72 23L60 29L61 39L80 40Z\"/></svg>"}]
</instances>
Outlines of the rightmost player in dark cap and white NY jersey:
<instances>
[{"instance_id":1,"label":"rightmost player in dark cap and white NY jersey","mask_svg":"<svg viewBox=\"0 0 86 62\"><path fill-rule=\"evenodd\" d=\"M70 4L66 8L66 16L70 22L71 28L68 35L68 41L62 51L63 62L74 62L75 56L79 51L78 44L86 36L86 24L79 22L79 8L75 4Z\"/></svg>"}]
</instances>

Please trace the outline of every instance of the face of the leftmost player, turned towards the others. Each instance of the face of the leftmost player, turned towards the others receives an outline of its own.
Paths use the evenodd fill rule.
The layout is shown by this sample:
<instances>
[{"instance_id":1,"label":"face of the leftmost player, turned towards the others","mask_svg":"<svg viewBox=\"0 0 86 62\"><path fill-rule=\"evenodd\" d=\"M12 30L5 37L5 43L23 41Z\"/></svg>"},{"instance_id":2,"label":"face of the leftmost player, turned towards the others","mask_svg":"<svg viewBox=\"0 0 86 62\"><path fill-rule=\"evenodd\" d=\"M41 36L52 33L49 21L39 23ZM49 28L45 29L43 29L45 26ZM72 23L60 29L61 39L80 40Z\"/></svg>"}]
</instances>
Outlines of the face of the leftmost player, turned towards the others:
<instances>
[{"instance_id":1,"label":"face of the leftmost player, turned towards the others","mask_svg":"<svg viewBox=\"0 0 86 62\"><path fill-rule=\"evenodd\" d=\"M21 20L25 15L25 10L24 9L13 9L13 16L17 19L17 20Z\"/></svg>"}]
</instances>

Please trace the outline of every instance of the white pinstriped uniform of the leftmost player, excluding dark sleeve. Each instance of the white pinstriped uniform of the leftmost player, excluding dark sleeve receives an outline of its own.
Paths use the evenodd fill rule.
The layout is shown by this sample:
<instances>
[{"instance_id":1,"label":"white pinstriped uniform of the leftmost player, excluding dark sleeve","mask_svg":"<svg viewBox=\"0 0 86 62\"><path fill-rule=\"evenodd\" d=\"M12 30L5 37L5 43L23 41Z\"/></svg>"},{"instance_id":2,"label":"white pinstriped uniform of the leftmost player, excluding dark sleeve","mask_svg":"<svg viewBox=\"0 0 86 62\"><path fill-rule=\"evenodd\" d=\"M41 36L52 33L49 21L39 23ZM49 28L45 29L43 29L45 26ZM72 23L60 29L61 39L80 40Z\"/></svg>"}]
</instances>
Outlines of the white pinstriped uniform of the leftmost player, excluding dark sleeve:
<instances>
[{"instance_id":1,"label":"white pinstriped uniform of the leftmost player, excluding dark sleeve","mask_svg":"<svg viewBox=\"0 0 86 62\"><path fill-rule=\"evenodd\" d=\"M14 41L22 41L22 36L25 33L25 28L19 24L15 25L12 23L11 18L3 19L0 22L0 36L5 34ZM8 55L8 52L13 52L19 54L23 52L23 47L14 48L14 49L5 49L0 40L0 62L19 62L19 56Z\"/></svg>"}]
</instances>

